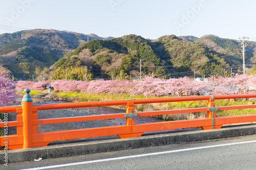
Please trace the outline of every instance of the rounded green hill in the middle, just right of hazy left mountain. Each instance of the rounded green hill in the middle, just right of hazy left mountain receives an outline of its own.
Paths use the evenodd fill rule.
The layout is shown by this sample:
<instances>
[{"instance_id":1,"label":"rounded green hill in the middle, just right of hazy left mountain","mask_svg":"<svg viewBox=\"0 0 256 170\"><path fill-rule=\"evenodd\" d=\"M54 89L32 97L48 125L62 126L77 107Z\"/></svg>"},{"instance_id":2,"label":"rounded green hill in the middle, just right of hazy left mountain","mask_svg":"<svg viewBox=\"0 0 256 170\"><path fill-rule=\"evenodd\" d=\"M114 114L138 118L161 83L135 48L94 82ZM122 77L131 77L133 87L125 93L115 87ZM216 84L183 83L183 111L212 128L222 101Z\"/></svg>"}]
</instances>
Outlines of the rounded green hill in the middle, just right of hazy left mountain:
<instances>
[{"instance_id":1,"label":"rounded green hill in the middle, just right of hazy left mountain","mask_svg":"<svg viewBox=\"0 0 256 170\"><path fill-rule=\"evenodd\" d=\"M53 66L54 79L60 68L71 65L88 66L94 78L129 78L139 75L139 62L142 60L143 74L162 71L154 66L162 66L160 58L154 53L150 41L136 35L127 35L110 40L95 39L77 47L73 52L65 55ZM147 67L147 66L152 66ZM70 70L72 72L72 70ZM81 75L77 75L79 79Z\"/></svg>"}]
</instances>

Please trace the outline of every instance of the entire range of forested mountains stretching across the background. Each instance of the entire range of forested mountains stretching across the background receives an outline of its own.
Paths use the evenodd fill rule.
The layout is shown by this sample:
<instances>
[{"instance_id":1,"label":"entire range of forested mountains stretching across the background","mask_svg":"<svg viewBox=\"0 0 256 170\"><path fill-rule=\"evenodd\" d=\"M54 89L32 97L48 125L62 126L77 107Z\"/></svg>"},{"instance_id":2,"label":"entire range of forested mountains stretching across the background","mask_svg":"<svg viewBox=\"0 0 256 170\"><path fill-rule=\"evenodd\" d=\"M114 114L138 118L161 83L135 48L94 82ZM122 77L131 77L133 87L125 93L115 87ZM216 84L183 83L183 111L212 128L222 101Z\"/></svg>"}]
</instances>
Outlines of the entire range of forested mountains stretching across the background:
<instances>
[{"instance_id":1,"label":"entire range of forested mountains stretching across the background","mask_svg":"<svg viewBox=\"0 0 256 170\"><path fill-rule=\"evenodd\" d=\"M46 79L65 79L66 74L68 79L139 78L140 61L142 75L203 77L230 75L230 67L241 72L239 43L214 35L165 35L150 40L134 34L102 38L37 29L0 35L0 59L19 79L43 72ZM255 64L256 42L248 43L246 64Z\"/></svg>"}]
</instances>

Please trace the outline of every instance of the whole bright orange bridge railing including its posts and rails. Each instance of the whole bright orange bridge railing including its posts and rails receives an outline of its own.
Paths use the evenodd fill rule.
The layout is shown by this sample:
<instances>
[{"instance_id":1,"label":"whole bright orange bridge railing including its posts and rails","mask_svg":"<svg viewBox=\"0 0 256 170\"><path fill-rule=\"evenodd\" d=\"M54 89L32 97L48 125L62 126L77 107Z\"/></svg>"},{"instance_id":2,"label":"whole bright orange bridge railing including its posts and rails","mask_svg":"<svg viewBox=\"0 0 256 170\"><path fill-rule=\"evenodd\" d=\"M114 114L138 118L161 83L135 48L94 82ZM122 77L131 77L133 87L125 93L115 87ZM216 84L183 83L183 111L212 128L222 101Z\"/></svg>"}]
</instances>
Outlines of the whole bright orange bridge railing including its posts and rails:
<instances>
[{"instance_id":1,"label":"whole bright orange bridge railing including its posts and rails","mask_svg":"<svg viewBox=\"0 0 256 170\"><path fill-rule=\"evenodd\" d=\"M118 135L121 138L141 136L144 132L161 131L169 129L193 128L201 127L204 130L218 129L222 125L256 122L256 114L216 117L216 111L249 109L256 108L256 105L240 105L240 106L218 106L215 100L221 99L243 99L256 98L256 94L230 94L230 95L204 95L204 96L184 96L172 98L154 98L154 99L132 99L132 100L116 100L116 101L100 101L100 102L79 102L79 103L59 103L59 104L42 104L33 105L30 90L24 90L26 94L21 106L0 107L0 112L17 112L16 121L4 121L0 123L0 127L17 127L16 135L1 136L1 145L6 146L8 141L8 149L31 148L47 145L50 141L68 140L77 138L88 138L96 136ZM172 110L157 110L134 112L133 106L136 104L149 103L168 103L168 102L185 102L185 101L207 101L206 107L203 108L186 108ZM97 106L116 106L126 105L125 113L59 117L38 119L38 110L49 109L65 109L65 108L84 108ZM134 124L134 119L140 116L152 116L163 114L179 114L207 112L207 118L175 120L156 123ZM67 122L80 122L99 119L113 119L126 117L126 125L97 127L86 129L74 129L52 132L38 132L38 125L56 124Z\"/></svg>"}]
</instances>

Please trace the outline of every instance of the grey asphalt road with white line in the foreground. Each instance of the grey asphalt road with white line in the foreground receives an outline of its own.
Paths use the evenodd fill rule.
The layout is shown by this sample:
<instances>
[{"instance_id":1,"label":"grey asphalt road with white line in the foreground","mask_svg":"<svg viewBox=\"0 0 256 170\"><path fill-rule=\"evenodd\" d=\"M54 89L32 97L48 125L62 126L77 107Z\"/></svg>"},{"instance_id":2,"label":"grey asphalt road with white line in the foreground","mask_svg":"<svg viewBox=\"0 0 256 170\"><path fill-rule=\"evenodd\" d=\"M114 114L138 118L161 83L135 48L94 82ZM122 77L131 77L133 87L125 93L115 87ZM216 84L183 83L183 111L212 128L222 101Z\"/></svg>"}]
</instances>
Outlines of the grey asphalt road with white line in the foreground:
<instances>
[{"instance_id":1,"label":"grey asphalt road with white line in the foreground","mask_svg":"<svg viewBox=\"0 0 256 170\"><path fill-rule=\"evenodd\" d=\"M0 169L256 169L256 135L0 164Z\"/></svg>"}]
</instances>

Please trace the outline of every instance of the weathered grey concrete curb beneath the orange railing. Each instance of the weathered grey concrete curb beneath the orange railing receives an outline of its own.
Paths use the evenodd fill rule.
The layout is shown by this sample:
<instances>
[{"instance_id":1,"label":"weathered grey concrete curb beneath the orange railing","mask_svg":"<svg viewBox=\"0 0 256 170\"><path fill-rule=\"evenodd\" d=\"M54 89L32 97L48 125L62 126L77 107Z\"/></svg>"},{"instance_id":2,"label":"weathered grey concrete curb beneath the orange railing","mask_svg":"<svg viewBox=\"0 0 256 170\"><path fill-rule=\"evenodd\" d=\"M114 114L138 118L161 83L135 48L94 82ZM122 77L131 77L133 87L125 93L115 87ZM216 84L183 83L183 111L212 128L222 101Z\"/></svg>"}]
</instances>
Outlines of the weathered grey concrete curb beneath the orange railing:
<instances>
[{"instance_id":1,"label":"weathered grey concrete curb beneath the orange railing","mask_svg":"<svg viewBox=\"0 0 256 170\"><path fill-rule=\"evenodd\" d=\"M10 163L34 160L37 158L47 159L66 157L253 134L256 134L255 124L236 127L225 127L215 130L198 130L188 132L172 132L166 134L144 135L141 137L125 139L118 138L86 142L78 141L66 144L48 145L46 147L9 150L7 153L8 163ZM4 163L4 156L5 152L1 151L1 163Z\"/></svg>"}]
</instances>

